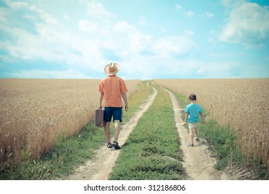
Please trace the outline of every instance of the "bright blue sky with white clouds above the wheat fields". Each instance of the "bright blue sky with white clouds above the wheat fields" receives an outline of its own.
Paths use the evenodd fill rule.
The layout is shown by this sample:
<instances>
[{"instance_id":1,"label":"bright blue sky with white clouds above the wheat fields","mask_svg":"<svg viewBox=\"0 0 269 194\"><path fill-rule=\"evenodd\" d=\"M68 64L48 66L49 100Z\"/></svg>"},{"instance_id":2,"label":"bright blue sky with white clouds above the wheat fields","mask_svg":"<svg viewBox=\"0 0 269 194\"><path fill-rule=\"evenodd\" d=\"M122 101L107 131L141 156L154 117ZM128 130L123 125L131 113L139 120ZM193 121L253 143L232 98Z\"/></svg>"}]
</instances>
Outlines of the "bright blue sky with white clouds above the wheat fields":
<instances>
[{"instance_id":1,"label":"bright blue sky with white clouds above the wheat fields","mask_svg":"<svg viewBox=\"0 0 269 194\"><path fill-rule=\"evenodd\" d=\"M269 2L0 0L0 78L269 78Z\"/></svg>"}]
</instances>

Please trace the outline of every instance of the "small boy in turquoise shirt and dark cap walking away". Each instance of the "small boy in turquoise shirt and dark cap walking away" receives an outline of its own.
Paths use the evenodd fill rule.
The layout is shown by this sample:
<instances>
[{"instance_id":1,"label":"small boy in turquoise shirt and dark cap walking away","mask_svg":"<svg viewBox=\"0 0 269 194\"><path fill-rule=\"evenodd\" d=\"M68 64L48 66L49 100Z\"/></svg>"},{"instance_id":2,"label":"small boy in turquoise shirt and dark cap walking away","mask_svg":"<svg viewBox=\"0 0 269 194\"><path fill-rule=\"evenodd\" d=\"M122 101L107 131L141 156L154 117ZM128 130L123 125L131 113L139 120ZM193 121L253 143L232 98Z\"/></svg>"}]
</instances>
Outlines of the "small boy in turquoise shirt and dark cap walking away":
<instances>
[{"instance_id":1,"label":"small boy in turquoise shirt and dark cap walking away","mask_svg":"<svg viewBox=\"0 0 269 194\"><path fill-rule=\"evenodd\" d=\"M205 119L203 118L203 109L200 105L196 104L196 95L190 94L189 95L189 101L191 102L187 107L185 108L185 123L189 123L189 146L194 146L194 136L193 132L196 137L196 141L200 141L198 138L198 132L197 132L197 123L199 122L199 115L201 116L203 123L205 123Z\"/></svg>"}]
</instances>

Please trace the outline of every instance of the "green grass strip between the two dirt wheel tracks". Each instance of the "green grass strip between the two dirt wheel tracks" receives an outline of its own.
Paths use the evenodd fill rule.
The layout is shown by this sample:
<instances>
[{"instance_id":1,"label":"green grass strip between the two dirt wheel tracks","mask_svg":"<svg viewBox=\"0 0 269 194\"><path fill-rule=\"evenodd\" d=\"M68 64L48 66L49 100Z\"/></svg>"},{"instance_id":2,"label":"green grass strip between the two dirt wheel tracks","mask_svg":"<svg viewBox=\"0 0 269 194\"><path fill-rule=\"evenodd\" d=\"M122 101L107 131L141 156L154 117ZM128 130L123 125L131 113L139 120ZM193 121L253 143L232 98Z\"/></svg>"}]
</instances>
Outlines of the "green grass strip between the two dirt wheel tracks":
<instances>
[{"instance_id":1,"label":"green grass strip between the two dirt wheel tracks","mask_svg":"<svg viewBox=\"0 0 269 194\"><path fill-rule=\"evenodd\" d=\"M158 88L153 105L122 145L109 179L185 179L169 94Z\"/></svg>"}]
</instances>

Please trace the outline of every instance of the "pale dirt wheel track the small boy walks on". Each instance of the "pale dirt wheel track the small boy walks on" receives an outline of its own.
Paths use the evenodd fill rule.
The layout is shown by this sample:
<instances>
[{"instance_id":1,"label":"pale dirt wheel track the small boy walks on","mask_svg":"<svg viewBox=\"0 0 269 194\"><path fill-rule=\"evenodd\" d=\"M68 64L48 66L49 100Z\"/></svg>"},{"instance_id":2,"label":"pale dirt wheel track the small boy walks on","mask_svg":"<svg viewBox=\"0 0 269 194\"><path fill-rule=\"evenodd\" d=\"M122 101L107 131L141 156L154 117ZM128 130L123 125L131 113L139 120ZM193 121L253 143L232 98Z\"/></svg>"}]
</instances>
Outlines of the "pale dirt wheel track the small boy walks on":
<instances>
[{"instance_id":1,"label":"pale dirt wheel track the small boy walks on","mask_svg":"<svg viewBox=\"0 0 269 194\"><path fill-rule=\"evenodd\" d=\"M183 150L183 166L186 169L188 179L194 180L228 180L229 178L222 171L216 170L214 164L216 159L210 157L209 145L205 139L194 143L194 147L189 147L189 134L186 128L183 126L183 120L181 118L181 111L178 106L178 102L174 94L171 91L165 89L168 92L174 109L174 117L176 121L176 127L178 135L180 136L180 148Z\"/></svg>"}]
</instances>

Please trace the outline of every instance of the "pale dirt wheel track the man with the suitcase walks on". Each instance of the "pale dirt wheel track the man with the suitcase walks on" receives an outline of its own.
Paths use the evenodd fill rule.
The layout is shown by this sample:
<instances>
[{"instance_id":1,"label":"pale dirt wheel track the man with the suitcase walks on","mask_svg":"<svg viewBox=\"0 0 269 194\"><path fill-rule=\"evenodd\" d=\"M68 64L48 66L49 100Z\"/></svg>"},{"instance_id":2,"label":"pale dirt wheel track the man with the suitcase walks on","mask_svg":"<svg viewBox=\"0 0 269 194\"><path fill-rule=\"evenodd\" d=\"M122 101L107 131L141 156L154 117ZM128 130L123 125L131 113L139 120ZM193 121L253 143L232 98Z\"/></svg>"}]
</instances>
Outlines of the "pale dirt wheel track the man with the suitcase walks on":
<instances>
[{"instance_id":1,"label":"pale dirt wheel track the man with the suitcase walks on","mask_svg":"<svg viewBox=\"0 0 269 194\"><path fill-rule=\"evenodd\" d=\"M147 82L147 86L149 86L149 82ZM134 114L134 116L122 125L120 130L120 136L118 141L121 145L125 143L130 132L136 127L139 118L149 109L149 107L154 102L158 91L154 87L154 93L147 98L146 102L140 106L138 112ZM95 151L95 156L93 159L86 162L84 166L80 166L75 170L75 173L69 175L65 179L67 180L107 180L109 173L111 173L112 168L115 164L116 159L120 155L120 150L115 150L113 148L109 149L106 146L102 146L99 150Z\"/></svg>"}]
</instances>

